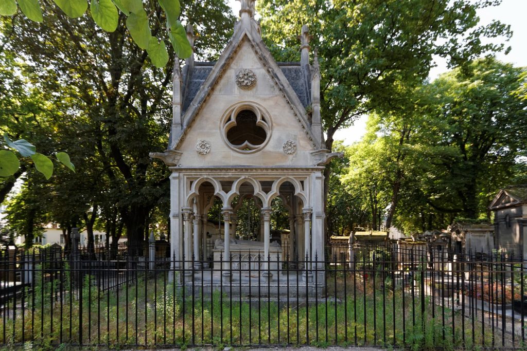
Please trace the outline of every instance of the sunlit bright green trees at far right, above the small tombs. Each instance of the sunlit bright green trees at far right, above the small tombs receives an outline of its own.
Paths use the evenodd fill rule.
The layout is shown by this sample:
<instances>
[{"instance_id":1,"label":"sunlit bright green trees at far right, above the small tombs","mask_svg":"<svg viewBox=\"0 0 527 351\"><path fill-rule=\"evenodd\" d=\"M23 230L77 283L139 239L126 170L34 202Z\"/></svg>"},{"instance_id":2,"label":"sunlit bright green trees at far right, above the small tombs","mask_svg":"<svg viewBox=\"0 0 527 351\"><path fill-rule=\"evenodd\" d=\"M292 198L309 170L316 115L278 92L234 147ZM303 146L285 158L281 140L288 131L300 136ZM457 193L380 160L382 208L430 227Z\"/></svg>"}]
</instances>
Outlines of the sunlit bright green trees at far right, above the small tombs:
<instances>
[{"instance_id":1,"label":"sunlit bright green trees at far right, above the small tombs","mask_svg":"<svg viewBox=\"0 0 527 351\"><path fill-rule=\"evenodd\" d=\"M408 234L455 217L489 221L497 190L523 179L524 72L479 59L416 88L404 108L370 115L347 151L348 192Z\"/></svg>"}]
</instances>

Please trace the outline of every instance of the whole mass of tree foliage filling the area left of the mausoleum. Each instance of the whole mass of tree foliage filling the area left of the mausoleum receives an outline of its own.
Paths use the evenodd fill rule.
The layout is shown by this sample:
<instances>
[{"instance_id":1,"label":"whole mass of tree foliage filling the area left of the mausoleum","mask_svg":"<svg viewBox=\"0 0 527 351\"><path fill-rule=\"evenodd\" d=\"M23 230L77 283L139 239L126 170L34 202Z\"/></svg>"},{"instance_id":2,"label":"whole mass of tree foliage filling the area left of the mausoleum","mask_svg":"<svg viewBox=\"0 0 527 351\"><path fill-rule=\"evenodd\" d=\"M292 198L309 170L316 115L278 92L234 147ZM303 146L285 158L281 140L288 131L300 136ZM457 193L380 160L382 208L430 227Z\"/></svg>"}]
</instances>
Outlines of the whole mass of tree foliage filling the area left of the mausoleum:
<instances>
[{"instance_id":1,"label":"whole mass of tree foliage filling the area left of the mausoleum","mask_svg":"<svg viewBox=\"0 0 527 351\"><path fill-rule=\"evenodd\" d=\"M152 33L163 35L166 18L157 0L114 3L121 11L146 9ZM233 26L230 8L223 0L181 5L189 23L210 23L196 38L196 55L214 59ZM31 141L65 167L55 164L56 176L46 180L34 176L30 157L19 157L20 168L0 179L0 190L8 193L17 179L29 180L38 196L23 188L9 202L13 227L28 233L32 225L38 235L43 223L53 222L67 236L74 226L91 225L93 215L94 228L115 238L127 235L130 242L142 241L149 227L166 233L169 171L148 153L168 143L172 63L179 58L171 49L162 56L167 38L157 42L149 36L148 44L157 44L149 54L171 63L155 68L133 42L122 13L118 28L107 33L91 16L68 20L54 5L42 10L45 21L37 32L24 16L0 17L0 31L9 37L0 51L0 89L6 92L0 94L0 126L2 134ZM76 173L68 172L73 164Z\"/></svg>"}]
</instances>

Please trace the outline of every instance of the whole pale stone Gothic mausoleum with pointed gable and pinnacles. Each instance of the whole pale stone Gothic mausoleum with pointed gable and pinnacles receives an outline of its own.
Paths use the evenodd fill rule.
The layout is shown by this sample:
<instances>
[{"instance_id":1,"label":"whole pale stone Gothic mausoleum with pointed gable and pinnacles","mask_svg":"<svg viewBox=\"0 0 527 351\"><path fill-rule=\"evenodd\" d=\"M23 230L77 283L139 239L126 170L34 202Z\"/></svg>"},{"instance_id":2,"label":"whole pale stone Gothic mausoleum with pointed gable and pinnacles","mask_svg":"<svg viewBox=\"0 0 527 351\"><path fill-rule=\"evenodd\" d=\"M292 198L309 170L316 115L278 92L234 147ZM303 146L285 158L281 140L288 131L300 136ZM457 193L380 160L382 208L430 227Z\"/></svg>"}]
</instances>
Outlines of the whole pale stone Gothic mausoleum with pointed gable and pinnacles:
<instances>
[{"instance_id":1,"label":"whole pale stone Gothic mausoleum with pointed gable and pinnacles","mask_svg":"<svg viewBox=\"0 0 527 351\"><path fill-rule=\"evenodd\" d=\"M219 199L223 233L214 240L212 268L221 265L222 282L236 279L233 270L248 269L280 282L280 269L290 263L304 282L314 283L313 271L324 261L324 165L339 155L324 148L320 72L316 52L310 57L307 26L300 33L300 62L275 62L254 13L254 0L241 0L240 19L217 62L191 56L182 69L175 62L169 145L151 154L172 171L171 252L185 275L192 266L202 269L207 214ZM190 26L187 32L193 45ZM288 212L287 255L270 237L276 197ZM248 199L260 209L258 240L234 235L237 211Z\"/></svg>"}]
</instances>

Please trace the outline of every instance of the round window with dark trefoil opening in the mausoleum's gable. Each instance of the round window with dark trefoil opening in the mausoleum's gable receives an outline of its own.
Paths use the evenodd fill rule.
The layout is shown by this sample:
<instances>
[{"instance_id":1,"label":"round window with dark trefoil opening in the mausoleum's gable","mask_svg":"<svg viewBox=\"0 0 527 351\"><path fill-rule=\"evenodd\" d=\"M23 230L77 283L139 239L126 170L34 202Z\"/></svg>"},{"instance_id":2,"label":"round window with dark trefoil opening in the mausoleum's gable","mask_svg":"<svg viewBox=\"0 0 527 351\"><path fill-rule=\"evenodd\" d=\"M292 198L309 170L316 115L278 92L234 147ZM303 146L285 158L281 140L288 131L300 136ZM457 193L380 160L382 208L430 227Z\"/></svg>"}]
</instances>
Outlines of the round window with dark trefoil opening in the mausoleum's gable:
<instances>
[{"instance_id":1,"label":"round window with dark trefoil opening in the mausoleum's gable","mask_svg":"<svg viewBox=\"0 0 527 351\"><path fill-rule=\"evenodd\" d=\"M230 107L223 115L221 136L231 149L245 154L255 153L269 141L270 122L262 106L243 102Z\"/></svg>"}]
</instances>

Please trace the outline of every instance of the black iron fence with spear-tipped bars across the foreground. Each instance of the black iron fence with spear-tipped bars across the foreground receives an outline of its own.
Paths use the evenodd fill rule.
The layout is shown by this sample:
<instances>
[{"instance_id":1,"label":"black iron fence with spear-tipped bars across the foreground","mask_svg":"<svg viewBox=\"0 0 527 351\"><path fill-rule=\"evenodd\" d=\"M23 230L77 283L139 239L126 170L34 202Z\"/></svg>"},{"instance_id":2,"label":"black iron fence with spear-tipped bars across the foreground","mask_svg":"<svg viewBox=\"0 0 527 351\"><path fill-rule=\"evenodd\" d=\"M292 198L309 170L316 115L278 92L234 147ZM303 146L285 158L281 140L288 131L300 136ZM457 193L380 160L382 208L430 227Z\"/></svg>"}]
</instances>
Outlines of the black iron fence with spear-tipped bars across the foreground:
<instances>
[{"instance_id":1,"label":"black iron fence with spear-tipped bars across the foreground","mask_svg":"<svg viewBox=\"0 0 527 351\"><path fill-rule=\"evenodd\" d=\"M525 346L527 262L499 253L377 245L204 268L128 252L2 253L0 345Z\"/></svg>"}]
</instances>

